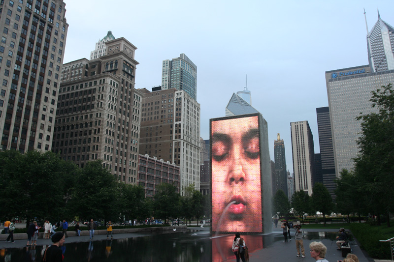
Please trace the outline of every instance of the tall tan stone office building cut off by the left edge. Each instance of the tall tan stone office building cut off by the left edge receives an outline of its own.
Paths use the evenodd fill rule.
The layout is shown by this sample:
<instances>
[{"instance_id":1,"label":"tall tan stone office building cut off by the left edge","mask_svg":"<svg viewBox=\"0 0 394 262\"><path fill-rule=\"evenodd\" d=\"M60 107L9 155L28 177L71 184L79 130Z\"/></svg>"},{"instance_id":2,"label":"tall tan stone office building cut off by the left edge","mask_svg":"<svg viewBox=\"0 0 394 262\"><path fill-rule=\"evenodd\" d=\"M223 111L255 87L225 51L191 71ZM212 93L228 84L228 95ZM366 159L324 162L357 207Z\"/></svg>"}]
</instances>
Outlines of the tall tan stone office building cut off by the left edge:
<instances>
[{"instance_id":1,"label":"tall tan stone office building cut off by the left edge","mask_svg":"<svg viewBox=\"0 0 394 262\"><path fill-rule=\"evenodd\" d=\"M65 5L63 0L0 3L2 150L51 150L68 29Z\"/></svg>"}]
</instances>

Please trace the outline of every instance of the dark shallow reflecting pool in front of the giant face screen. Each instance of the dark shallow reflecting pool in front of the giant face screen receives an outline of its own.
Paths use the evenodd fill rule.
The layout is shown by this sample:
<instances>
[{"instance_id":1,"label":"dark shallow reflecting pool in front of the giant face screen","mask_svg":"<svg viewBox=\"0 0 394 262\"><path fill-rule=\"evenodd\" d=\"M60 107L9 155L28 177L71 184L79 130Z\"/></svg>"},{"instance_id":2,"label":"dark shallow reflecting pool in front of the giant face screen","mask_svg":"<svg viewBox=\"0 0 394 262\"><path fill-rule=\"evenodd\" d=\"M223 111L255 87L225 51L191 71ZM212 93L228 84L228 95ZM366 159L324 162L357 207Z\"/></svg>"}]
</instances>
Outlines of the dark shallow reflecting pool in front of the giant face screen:
<instances>
[{"instance_id":1,"label":"dark shallow reflecting pool in front of the giant face screen","mask_svg":"<svg viewBox=\"0 0 394 262\"><path fill-rule=\"evenodd\" d=\"M337 233L312 232L305 238L335 239ZM130 234L132 235L132 234ZM70 242L64 245L64 262L205 262L234 259L233 234L215 236L209 231L179 230L177 233L135 234L114 240ZM127 236L127 234L125 234ZM283 235L243 235L249 253L282 241ZM41 261L47 246L1 249L0 262Z\"/></svg>"}]
</instances>

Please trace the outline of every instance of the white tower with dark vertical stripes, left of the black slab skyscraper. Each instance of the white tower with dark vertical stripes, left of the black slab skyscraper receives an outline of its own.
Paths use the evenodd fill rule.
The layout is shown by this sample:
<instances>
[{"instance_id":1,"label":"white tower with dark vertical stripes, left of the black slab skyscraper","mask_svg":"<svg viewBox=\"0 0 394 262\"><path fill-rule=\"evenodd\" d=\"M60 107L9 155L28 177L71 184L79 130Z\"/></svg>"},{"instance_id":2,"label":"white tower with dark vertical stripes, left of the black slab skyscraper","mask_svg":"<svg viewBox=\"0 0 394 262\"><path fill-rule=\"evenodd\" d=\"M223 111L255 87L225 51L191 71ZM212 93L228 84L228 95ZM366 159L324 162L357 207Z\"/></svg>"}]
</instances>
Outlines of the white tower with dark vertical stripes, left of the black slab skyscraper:
<instances>
[{"instance_id":1,"label":"white tower with dark vertical stripes, left of the black slab skyscraper","mask_svg":"<svg viewBox=\"0 0 394 262\"><path fill-rule=\"evenodd\" d=\"M312 195L315 176L315 149L308 121L291 122L293 167L296 191L304 190Z\"/></svg>"}]
</instances>

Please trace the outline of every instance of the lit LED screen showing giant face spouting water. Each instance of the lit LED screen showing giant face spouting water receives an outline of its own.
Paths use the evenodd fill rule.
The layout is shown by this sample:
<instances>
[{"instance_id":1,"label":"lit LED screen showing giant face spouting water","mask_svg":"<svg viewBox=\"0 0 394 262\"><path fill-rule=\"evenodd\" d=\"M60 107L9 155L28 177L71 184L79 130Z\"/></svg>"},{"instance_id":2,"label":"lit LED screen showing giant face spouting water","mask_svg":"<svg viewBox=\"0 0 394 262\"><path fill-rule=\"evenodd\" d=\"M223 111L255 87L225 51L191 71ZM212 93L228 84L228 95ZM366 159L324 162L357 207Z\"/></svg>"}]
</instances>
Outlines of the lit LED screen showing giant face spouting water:
<instances>
[{"instance_id":1,"label":"lit LED screen showing giant face spouting water","mask_svg":"<svg viewBox=\"0 0 394 262\"><path fill-rule=\"evenodd\" d=\"M262 232L259 117L211 119L213 232Z\"/></svg>"}]
</instances>

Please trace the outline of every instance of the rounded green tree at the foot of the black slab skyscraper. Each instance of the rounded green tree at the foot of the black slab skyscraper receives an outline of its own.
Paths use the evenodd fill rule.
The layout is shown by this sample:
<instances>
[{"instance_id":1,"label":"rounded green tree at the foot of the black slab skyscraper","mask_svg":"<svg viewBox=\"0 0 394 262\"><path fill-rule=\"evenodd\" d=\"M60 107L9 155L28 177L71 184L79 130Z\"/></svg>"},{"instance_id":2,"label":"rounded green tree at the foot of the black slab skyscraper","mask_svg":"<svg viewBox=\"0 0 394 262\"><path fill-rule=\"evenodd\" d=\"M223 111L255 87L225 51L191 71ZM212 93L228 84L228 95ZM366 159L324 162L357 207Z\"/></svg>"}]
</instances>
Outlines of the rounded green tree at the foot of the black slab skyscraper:
<instances>
[{"instance_id":1,"label":"rounded green tree at the foot of the black slab skyscraper","mask_svg":"<svg viewBox=\"0 0 394 262\"><path fill-rule=\"evenodd\" d=\"M323 214L324 224L326 224L326 215L331 214L334 204L328 189L322 183L316 183L313 186L312 204L316 211Z\"/></svg>"}]
</instances>

